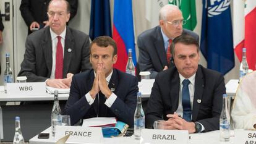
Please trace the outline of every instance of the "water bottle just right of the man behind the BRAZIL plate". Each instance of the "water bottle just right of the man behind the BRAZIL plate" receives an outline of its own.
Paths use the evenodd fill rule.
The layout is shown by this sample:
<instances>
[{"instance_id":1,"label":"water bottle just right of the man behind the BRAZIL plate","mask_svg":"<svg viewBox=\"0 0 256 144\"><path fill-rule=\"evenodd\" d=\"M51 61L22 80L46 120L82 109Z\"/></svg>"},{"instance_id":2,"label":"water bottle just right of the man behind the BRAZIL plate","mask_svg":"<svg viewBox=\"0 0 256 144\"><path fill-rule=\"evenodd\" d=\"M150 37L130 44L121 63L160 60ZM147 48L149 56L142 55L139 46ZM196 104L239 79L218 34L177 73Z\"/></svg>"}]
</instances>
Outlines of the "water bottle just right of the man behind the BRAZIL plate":
<instances>
[{"instance_id":1,"label":"water bottle just right of the man behind the BRAZIL plate","mask_svg":"<svg viewBox=\"0 0 256 144\"><path fill-rule=\"evenodd\" d=\"M220 115L220 141L229 142L230 137L230 115L228 109L227 95L223 94L222 111Z\"/></svg>"}]
</instances>

